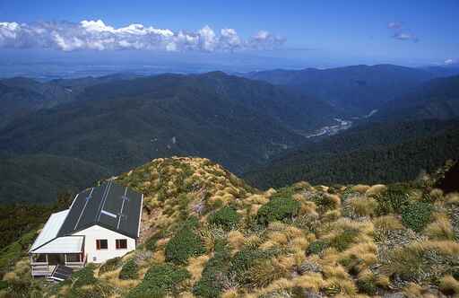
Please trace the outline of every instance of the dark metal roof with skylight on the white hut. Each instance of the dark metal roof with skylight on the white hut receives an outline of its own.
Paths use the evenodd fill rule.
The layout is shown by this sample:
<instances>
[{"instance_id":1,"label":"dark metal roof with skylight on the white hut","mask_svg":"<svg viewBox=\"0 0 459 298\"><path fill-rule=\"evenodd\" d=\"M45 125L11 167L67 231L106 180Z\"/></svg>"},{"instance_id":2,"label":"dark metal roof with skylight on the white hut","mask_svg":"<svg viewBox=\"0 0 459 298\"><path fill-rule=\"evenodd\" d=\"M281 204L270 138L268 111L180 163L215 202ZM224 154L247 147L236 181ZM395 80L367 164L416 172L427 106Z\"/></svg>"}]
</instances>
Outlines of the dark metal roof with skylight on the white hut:
<instances>
[{"instance_id":1,"label":"dark metal roof with skylight on the white hut","mask_svg":"<svg viewBox=\"0 0 459 298\"><path fill-rule=\"evenodd\" d=\"M79 193L57 237L71 235L98 224L109 230L137 238L143 195L132 188L108 181Z\"/></svg>"}]
</instances>

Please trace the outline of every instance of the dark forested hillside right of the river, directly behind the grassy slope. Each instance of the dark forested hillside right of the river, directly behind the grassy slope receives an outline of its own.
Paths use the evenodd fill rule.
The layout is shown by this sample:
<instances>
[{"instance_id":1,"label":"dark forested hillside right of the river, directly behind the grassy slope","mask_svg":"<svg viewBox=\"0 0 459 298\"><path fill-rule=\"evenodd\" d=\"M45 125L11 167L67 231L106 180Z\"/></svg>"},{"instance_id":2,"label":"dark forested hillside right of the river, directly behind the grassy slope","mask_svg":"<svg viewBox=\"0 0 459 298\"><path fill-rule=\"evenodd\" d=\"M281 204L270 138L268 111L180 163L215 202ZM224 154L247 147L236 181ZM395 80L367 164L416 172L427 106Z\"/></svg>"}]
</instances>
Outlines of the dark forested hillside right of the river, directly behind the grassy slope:
<instances>
[{"instance_id":1,"label":"dark forested hillside right of the river, directly behind the grassy slope","mask_svg":"<svg viewBox=\"0 0 459 298\"><path fill-rule=\"evenodd\" d=\"M258 188L312 183L391 183L458 159L459 123L421 121L356 127L285 153L244 178Z\"/></svg>"}]
</instances>

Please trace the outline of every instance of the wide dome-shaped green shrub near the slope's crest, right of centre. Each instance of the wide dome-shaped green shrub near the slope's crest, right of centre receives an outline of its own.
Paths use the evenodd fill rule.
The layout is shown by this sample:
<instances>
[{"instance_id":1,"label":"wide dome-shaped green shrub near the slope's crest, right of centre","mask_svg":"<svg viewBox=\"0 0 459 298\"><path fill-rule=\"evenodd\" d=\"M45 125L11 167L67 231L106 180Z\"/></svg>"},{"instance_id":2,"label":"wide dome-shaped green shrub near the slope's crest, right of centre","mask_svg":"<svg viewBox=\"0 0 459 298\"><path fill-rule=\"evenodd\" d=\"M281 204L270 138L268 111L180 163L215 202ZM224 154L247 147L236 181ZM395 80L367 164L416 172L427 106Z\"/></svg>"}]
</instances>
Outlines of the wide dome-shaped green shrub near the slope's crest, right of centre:
<instances>
[{"instance_id":1,"label":"wide dome-shaped green shrub near the slope's crest, right of centre","mask_svg":"<svg viewBox=\"0 0 459 298\"><path fill-rule=\"evenodd\" d=\"M289 219L298 214L300 203L291 197L273 197L261 206L256 215L259 223L271 223Z\"/></svg>"}]
</instances>

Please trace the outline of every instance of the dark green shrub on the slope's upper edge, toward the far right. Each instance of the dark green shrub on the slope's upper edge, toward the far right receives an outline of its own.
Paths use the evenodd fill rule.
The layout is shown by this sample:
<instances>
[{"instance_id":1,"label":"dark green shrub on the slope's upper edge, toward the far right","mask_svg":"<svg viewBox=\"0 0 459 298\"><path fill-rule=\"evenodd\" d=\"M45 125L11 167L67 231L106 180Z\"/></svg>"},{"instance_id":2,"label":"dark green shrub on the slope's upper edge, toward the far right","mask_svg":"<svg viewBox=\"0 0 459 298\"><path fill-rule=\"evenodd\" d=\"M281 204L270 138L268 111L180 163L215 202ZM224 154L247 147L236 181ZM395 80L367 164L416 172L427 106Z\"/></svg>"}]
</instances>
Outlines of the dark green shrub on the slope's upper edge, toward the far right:
<instances>
[{"instance_id":1,"label":"dark green shrub on the slope's upper edge, toward the far right","mask_svg":"<svg viewBox=\"0 0 459 298\"><path fill-rule=\"evenodd\" d=\"M408 205L408 193L410 188L404 184L392 184L377 199L377 215L400 213L404 206Z\"/></svg>"}]
</instances>

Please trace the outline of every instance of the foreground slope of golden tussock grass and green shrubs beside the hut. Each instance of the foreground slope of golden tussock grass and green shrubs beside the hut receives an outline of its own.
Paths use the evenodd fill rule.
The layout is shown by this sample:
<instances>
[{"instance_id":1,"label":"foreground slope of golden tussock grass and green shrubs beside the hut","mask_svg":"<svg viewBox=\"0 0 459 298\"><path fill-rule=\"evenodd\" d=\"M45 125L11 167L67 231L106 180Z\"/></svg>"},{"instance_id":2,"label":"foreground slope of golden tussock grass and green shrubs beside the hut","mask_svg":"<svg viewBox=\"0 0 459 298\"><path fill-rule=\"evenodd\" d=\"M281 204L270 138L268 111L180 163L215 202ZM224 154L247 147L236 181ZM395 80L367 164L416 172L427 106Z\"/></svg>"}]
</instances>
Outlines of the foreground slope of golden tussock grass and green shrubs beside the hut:
<instances>
[{"instance_id":1,"label":"foreground slope of golden tussock grass and green shrubs beside the hut","mask_svg":"<svg viewBox=\"0 0 459 298\"><path fill-rule=\"evenodd\" d=\"M117 180L145 194L143 244L46 288L23 260L4 294L18 284L54 297L459 294L459 197L429 179L261 192L206 159L172 158Z\"/></svg>"}]
</instances>

